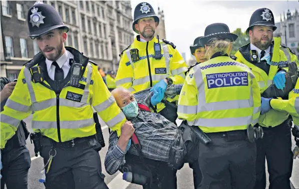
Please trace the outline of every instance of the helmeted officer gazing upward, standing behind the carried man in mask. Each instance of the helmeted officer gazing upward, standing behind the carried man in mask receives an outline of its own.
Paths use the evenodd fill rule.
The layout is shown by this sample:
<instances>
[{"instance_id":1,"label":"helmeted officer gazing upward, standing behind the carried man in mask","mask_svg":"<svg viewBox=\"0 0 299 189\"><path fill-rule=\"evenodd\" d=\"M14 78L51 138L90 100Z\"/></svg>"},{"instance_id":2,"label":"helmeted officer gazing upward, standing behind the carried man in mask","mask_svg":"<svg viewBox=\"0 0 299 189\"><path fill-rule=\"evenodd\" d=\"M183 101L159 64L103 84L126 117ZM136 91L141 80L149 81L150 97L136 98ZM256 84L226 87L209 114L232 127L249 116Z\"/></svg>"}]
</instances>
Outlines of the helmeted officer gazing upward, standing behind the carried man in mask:
<instances>
[{"instance_id":1,"label":"helmeted officer gazing upward, standing behind the carried man in mask","mask_svg":"<svg viewBox=\"0 0 299 189\"><path fill-rule=\"evenodd\" d=\"M121 53L119 69L116 74L116 85L135 93L149 87L156 93L164 95L168 84L184 82L187 66L175 49L175 45L166 40L158 40L155 31L159 17L154 8L147 2L135 7L133 30L139 35L134 42ZM175 103L178 97L168 98ZM161 101L161 100L160 100ZM152 101L152 111L160 112L166 119L175 123L176 110L165 108L163 103Z\"/></svg>"}]
</instances>

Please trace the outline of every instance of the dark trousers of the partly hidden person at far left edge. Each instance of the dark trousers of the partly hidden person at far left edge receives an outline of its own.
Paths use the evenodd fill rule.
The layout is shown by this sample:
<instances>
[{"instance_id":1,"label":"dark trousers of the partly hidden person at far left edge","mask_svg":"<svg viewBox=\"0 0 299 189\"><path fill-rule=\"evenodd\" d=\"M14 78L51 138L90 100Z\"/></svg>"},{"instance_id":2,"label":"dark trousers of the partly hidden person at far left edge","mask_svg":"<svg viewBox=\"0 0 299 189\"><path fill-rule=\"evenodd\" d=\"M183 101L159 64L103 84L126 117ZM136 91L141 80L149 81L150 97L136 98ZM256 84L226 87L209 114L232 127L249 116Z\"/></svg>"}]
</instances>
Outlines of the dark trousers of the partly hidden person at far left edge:
<instances>
[{"instance_id":1,"label":"dark trousers of the partly hidden person at far left edge","mask_svg":"<svg viewBox=\"0 0 299 189\"><path fill-rule=\"evenodd\" d=\"M28 172L31 166L26 146L12 148L2 154L1 189L28 189Z\"/></svg>"}]
</instances>

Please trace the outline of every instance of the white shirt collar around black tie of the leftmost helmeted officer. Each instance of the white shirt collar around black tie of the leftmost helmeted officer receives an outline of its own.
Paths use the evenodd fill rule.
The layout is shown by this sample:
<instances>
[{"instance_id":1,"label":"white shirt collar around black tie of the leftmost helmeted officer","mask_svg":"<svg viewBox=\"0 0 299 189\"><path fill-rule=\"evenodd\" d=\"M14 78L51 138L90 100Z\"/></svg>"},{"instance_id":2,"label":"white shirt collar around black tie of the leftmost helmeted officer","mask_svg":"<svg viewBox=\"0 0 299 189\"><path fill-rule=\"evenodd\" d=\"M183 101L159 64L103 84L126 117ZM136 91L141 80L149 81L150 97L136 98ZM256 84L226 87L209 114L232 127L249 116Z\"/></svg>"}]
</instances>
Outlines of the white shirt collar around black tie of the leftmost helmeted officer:
<instances>
[{"instance_id":1,"label":"white shirt collar around black tie of the leftmost helmeted officer","mask_svg":"<svg viewBox=\"0 0 299 189\"><path fill-rule=\"evenodd\" d=\"M67 75L69 73L69 70L71 68L71 66L70 66L70 59L71 58L74 58L74 55L71 52L66 50L65 53L56 60L59 67L62 68L62 70L63 70L64 78L67 77ZM48 70L49 77L52 80L54 80L55 68L56 67L54 65L52 65L52 63L53 63L52 60L48 60L46 58L46 64L47 64L47 70Z\"/></svg>"}]
</instances>

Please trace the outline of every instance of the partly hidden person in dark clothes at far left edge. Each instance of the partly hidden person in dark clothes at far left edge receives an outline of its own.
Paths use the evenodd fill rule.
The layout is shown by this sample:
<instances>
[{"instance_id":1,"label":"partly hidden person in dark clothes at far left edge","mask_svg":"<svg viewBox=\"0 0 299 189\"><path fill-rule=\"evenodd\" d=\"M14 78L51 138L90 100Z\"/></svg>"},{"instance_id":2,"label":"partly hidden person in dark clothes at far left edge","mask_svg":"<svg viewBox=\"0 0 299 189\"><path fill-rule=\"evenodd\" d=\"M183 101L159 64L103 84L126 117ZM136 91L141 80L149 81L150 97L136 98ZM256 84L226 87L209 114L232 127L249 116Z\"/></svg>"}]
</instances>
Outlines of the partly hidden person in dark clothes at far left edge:
<instances>
[{"instance_id":1,"label":"partly hidden person in dark clothes at far left edge","mask_svg":"<svg viewBox=\"0 0 299 189\"><path fill-rule=\"evenodd\" d=\"M1 77L1 111L14 91L17 82ZM5 132L1 127L1 132ZM29 132L26 123L21 121L16 135L8 140L1 150L3 169L1 170L1 189L28 189L28 172L31 165L30 153L26 148Z\"/></svg>"}]
</instances>

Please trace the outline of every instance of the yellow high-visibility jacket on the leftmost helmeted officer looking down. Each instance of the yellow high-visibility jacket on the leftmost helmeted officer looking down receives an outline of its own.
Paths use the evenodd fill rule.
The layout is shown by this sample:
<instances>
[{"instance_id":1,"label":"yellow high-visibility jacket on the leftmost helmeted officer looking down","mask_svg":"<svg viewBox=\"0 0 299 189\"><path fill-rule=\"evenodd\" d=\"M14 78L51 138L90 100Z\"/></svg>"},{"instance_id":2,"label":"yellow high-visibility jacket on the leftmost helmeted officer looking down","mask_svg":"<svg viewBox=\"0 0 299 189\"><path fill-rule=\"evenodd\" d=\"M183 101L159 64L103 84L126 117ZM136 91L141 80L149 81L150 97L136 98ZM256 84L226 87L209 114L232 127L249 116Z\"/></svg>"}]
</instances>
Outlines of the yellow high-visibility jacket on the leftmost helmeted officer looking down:
<instances>
[{"instance_id":1,"label":"yellow high-visibility jacket on the leftmost helmeted officer looking down","mask_svg":"<svg viewBox=\"0 0 299 189\"><path fill-rule=\"evenodd\" d=\"M28 67L39 64L47 70L45 57L42 53L36 55L22 68L15 90L1 113L1 149L15 134L20 121L28 117L32 111L34 111L33 130L56 142L96 134L93 108L107 126L120 135L120 128L126 118L104 84L97 65L89 62L88 57L76 49L71 47L66 49L74 55L75 62L83 65L84 73L79 81L80 88L69 86L68 81L61 92L56 94L47 81L34 83ZM47 71L44 74L45 77L49 77Z\"/></svg>"}]
</instances>

